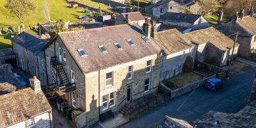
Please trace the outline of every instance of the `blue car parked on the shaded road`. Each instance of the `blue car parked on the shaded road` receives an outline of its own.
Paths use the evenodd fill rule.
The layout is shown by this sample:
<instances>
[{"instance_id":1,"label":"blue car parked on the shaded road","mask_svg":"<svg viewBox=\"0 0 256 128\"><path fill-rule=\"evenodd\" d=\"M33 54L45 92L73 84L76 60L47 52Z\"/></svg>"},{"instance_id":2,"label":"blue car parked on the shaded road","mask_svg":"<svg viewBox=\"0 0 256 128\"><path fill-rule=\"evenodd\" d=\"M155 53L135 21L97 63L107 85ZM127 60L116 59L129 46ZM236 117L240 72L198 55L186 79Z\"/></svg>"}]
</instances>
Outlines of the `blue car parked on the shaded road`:
<instances>
[{"instance_id":1,"label":"blue car parked on the shaded road","mask_svg":"<svg viewBox=\"0 0 256 128\"><path fill-rule=\"evenodd\" d=\"M205 83L205 88L208 88L211 91L216 92L216 90L218 90L219 88L223 88L224 83L223 81L221 81L221 79L217 79L217 78L211 78L208 79L207 83Z\"/></svg>"}]
</instances>

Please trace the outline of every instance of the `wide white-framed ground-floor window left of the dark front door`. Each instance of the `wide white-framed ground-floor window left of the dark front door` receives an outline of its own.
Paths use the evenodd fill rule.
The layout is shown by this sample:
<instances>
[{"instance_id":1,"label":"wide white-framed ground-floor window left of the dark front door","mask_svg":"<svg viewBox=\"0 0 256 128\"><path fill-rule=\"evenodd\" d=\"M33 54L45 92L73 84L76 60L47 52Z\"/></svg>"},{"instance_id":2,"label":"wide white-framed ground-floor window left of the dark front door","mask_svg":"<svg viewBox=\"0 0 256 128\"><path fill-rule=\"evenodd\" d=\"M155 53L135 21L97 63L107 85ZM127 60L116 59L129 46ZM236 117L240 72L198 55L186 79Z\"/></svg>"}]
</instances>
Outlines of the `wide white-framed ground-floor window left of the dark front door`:
<instances>
[{"instance_id":1,"label":"wide white-framed ground-floor window left of the dark front door","mask_svg":"<svg viewBox=\"0 0 256 128\"><path fill-rule=\"evenodd\" d=\"M115 95L115 92L111 92L102 96L102 111L115 106Z\"/></svg>"}]
</instances>

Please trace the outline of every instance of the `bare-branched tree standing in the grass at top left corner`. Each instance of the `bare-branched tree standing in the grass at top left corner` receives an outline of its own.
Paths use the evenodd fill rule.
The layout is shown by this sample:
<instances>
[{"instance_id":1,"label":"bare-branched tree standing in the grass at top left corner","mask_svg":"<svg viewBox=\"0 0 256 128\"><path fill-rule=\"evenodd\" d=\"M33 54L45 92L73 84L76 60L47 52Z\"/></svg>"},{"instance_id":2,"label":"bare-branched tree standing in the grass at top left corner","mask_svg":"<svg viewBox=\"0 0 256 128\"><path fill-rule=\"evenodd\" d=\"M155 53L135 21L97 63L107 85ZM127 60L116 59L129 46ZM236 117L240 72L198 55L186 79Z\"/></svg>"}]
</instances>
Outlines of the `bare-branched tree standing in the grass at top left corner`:
<instances>
[{"instance_id":1,"label":"bare-branched tree standing in the grass at top left corner","mask_svg":"<svg viewBox=\"0 0 256 128\"><path fill-rule=\"evenodd\" d=\"M36 8L35 0L6 0L4 7L19 19L20 24Z\"/></svg>"}]
</instances>

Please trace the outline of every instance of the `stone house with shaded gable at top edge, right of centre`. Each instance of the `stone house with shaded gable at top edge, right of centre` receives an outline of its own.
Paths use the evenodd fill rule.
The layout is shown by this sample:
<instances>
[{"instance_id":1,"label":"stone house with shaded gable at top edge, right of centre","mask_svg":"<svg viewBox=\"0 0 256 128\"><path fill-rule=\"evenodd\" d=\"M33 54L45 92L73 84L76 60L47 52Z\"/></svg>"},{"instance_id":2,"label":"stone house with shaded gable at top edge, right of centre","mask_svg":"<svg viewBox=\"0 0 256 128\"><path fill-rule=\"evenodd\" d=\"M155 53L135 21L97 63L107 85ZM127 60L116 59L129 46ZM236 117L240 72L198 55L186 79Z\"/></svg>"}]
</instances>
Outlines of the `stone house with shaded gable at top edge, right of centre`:
<instances>
[{"instance_id":1,"label":"stone house with shaded gable at top edge, right of centre","mask_svg":"<svg viewBox=\"0 0 256 128\"><path fill-rule=\"evenodd\" d=\"M202 7L194 0L152 0L146 7L146 13L161 16L166 12L201 14Z\"/></svg>"}]
</instances>

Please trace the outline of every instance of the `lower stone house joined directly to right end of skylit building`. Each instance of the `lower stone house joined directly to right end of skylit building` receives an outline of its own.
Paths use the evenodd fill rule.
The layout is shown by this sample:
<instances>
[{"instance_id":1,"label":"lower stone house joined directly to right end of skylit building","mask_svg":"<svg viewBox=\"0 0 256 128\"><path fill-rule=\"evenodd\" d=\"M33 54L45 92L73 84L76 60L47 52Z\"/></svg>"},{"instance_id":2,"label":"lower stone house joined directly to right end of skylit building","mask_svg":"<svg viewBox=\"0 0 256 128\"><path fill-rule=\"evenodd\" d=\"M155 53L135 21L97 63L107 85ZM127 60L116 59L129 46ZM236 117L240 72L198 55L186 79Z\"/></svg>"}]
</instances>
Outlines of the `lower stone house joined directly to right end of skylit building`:
<instances>
[{"instance_id":1,"label":"lower stone house joined directly to right end of skylit building","mask_svg":"<svg viewBox=\"0 0 256 128\"><path fill-rule=\"evenodd\" d=\"M195 45L177 29L155 32L154 40L163 49L161 81L182 72L188 56L195 59Z\"/></svg>"}]
</instances>

